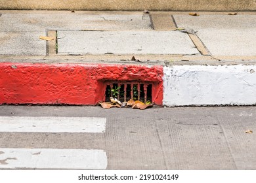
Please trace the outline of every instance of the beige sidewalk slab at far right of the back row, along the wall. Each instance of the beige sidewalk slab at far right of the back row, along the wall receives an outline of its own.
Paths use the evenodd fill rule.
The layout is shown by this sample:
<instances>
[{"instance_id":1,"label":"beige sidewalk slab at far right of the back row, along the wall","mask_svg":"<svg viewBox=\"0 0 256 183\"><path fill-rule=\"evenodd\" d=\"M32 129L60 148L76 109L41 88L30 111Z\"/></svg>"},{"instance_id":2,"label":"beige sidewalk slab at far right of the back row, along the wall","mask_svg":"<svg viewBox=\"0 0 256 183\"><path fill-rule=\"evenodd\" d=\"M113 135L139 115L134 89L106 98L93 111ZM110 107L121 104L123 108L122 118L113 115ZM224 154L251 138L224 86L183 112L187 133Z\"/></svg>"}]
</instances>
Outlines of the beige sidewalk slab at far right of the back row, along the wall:
<instances>
[{"instance_id":1,"label":"beige sidewalk slab at far right of the back row, along the wall","mask_svg":"<svg viewBox=\"0 0 256 183\"><path fill-rule=\"evenodd\" d=\"M256 28L256 15L239 14L200 14L200 16L190 16L188 14L173 14L178 27L186 29L248 29Z\"/></svg>"}]
</instances>

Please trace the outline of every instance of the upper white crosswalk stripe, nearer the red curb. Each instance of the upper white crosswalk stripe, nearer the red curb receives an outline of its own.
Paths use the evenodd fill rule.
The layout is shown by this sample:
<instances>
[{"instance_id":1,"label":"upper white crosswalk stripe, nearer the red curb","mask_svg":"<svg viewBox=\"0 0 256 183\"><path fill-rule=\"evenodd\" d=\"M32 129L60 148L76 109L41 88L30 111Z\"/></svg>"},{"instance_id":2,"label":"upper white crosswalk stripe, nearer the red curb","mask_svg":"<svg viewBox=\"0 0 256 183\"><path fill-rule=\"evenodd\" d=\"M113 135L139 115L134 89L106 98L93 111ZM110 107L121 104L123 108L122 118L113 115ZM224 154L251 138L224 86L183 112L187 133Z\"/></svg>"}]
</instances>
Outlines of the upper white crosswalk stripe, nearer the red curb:
<instances>
[{"instance_id":1,"label":"upper white crosswalk stripe, nearer the red curb","mask_svg":"<svg viewBox=\"0 0 256 183\"><path fill-rule=\"evenodd\" d=\"M106 118L0 116L0 132L104 133Z\"/></svg>"}]
</instances>

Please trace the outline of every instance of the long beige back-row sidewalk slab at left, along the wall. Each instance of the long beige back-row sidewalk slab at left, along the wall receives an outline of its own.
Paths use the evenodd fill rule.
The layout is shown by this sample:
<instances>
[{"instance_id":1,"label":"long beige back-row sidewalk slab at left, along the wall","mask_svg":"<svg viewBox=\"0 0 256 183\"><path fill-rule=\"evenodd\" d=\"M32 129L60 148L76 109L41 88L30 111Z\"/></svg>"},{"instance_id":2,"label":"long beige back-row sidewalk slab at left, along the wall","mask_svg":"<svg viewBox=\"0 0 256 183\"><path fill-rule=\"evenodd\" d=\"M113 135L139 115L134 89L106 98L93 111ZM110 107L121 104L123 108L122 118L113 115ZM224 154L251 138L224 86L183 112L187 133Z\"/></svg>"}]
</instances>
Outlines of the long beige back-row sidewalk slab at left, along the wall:
<instances>
[{"instance_id":1,"label":"long beige back-row sidewalk slab at left, along the wall","mask_svg":"<svg viewBox=\"0 0 256 183\"><path fill-rule=\"evenodd\" d=\"M3 13L0 31L152 29L148 14Z\"/></svg>"}]
</instances>

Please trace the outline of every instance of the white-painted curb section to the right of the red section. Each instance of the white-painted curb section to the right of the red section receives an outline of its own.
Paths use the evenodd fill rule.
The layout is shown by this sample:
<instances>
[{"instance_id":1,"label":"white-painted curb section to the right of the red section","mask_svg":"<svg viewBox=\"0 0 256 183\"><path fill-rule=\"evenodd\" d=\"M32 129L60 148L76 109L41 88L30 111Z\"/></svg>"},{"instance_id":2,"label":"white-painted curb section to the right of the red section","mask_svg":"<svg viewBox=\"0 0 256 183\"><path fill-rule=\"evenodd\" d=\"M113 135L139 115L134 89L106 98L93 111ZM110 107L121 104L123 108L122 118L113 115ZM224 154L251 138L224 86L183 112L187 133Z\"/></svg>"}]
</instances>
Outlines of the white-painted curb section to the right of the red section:
<instances>
[{"instance_id":1,"label":"white-painted curb section to the right of the red section","mask_svg":"<svg viewBox=\"0 0 256 183\"><path fill-rule=\"evenodd\" d=\"M256 65L163 67L163 105L254 105Z\"/></svg>"}]
</instances>

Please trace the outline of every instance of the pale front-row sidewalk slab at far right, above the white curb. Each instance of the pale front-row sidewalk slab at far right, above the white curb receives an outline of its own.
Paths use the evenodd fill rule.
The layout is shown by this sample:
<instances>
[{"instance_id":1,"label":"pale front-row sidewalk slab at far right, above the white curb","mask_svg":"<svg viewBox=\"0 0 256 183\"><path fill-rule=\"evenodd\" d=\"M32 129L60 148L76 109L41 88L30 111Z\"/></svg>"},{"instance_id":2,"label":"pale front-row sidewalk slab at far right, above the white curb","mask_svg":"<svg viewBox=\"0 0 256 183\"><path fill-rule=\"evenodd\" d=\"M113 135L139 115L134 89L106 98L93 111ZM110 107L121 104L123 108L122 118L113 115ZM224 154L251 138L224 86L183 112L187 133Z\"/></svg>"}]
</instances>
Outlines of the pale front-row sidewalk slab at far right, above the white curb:
<instances>
[{"instance_id":1,"label":"pale front-row sidewalk slab at far right, above the white curb","mask_svg":"<svg viewBox=\"0 0 256 183\"><path fill-rule=\"evenodd\" d=\"M213 56L256 56L255 31L256 27L255 29L202 29L197 35Z\"/></svg>"}]
</instances>

